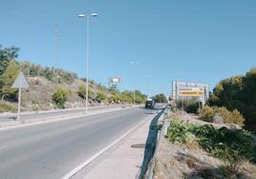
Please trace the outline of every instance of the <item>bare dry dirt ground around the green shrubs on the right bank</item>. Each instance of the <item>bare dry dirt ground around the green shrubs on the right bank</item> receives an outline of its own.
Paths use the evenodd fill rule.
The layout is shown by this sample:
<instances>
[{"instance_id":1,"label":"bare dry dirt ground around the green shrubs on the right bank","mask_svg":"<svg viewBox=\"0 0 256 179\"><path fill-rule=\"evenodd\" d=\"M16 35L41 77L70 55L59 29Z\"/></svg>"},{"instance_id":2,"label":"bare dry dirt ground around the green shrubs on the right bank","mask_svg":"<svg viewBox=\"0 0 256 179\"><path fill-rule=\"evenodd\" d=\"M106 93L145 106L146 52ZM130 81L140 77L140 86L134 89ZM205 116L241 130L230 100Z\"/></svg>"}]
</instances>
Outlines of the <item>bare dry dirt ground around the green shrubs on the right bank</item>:
<instances>
[{"instance_id":1,"label":"bare dry dirt ground around the green shrubs on the right bank","mask_svg":"<svg viewBox=\"0 0 256 179\"><path fill-rule=\"evenodd\" d=\"M185 124L212 125L212 123L203 122L195 115L181 112L174 115ZM213 124L213 126L216 129L236 128L233 125ZM194 137L187 136L190 139L185 144L172 143L167 136L162 138L154 169L154 179L256 178L256 166L248 160L241 160L239 165L229 164L227 167L223 160L203 150ZM235 172L229 169L230 167L234 167Z\"/></svg>"}]
</instances>

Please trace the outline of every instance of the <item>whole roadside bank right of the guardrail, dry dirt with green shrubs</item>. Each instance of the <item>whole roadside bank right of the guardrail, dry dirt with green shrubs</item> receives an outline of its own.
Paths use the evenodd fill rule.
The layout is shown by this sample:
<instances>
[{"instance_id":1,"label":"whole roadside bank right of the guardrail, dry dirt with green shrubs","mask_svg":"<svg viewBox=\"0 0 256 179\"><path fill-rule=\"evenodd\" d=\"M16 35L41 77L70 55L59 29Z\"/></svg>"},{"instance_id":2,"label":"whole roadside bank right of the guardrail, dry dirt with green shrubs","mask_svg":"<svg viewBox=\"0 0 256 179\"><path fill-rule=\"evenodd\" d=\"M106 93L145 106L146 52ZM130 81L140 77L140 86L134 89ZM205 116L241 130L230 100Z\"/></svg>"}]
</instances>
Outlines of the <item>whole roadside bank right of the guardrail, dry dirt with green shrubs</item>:
<instances>
[{"instance_id":1,"label":"whole roadside bank right of the guardrail, dry dirt with green shrubs","mask_svg":"<svg viewBox=\"0 0 256 179\"><path fill-rule=\"evenodd\" d=\"M208 109L215 114L213 108ZM251 132L238 125L209 123L181 111L170 114L155 178L255 178L256 140Z\"/></svg>"}]
</instances>

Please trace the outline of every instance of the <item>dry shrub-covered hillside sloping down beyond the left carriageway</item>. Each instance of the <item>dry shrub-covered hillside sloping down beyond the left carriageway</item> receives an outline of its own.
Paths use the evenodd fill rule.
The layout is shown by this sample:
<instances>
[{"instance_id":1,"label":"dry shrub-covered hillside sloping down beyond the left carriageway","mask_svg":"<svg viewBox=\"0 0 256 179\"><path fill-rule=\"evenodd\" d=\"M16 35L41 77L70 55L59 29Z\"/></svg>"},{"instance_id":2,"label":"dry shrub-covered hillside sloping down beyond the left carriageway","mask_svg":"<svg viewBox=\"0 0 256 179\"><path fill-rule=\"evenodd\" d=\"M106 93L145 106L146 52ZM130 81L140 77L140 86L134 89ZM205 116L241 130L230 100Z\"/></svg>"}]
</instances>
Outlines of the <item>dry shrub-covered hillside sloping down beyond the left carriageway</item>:
<instances>
[{"instance_id":1,"label":"dry shrub-covered hillside sloping down beyond the left carriageway","mask_svg":"<svg viewBox=\"0 0 256 179\"><path fill-rule=\"evenodd\" d=\"M64 109L84 107L86 79L78 78L74 72L42 67L28 61L17 62L19 48L0 46L0 112L13 111L17 106L17 89L11 89L16 76L22 71L30 84L22 89L22 110ZM119 91L89 80L88 101L90 106L142 104L146 95L139 90Z\"/></svg>"}]
</instances>

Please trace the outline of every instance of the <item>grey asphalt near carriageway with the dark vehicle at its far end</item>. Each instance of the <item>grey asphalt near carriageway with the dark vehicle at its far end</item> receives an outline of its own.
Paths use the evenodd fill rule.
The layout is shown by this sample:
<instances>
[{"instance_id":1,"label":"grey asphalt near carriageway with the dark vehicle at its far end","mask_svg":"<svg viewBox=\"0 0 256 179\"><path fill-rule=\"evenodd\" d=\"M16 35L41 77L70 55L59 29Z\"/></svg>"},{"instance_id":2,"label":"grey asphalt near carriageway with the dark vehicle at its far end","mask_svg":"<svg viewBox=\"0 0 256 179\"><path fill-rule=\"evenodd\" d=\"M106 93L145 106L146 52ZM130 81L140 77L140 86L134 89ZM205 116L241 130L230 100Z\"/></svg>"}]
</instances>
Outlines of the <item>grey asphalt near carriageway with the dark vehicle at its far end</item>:
<instances>
[{"instance_id":1,"label":"grey asphalt near carriageway with the dark vehicle at its far end","mask_svg":"<svg viewBox=\"0 0 256 179\"><path fill-rule=\"evenodd\" d=\"M154 111L136 107L0 130L1 178L61 178Z\"/></svg>"}]
</instances>

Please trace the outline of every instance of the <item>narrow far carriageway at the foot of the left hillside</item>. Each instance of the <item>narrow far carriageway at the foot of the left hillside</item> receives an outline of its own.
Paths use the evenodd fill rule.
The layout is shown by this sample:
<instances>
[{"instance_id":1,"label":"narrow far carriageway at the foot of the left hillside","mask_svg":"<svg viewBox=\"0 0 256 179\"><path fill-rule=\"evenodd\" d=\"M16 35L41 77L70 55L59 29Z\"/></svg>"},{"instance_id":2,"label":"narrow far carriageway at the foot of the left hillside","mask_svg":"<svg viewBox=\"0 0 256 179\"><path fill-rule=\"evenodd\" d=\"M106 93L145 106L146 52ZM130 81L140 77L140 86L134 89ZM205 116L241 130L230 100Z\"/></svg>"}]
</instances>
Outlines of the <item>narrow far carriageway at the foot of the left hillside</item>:
<instances>
[{"instance_id":1,"label":"narrow far carriageway at the foot of the left hillside","mask_svg":"<svg viewBox=\"0 0 256 179\"><path fill-rule=\"evenodd\" d=\"M109 107L92 107L89 108L88 111L96 111L99 109L114 109L117 108L117 106L109 106ZM35 120L40 118L47 118L47 117L55 117L59 115L70 115L70 114L78 114L85 112L85 109L61 109L61 110L43 110L39 111L37 113L21 113L21 119L22 120ZM0 122L8 122L13 119L15 119L17 114L11 113L8 115L0 115Z\"/></svg>"}]
</instances>

